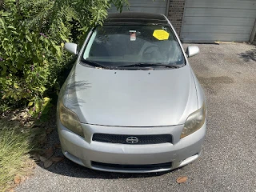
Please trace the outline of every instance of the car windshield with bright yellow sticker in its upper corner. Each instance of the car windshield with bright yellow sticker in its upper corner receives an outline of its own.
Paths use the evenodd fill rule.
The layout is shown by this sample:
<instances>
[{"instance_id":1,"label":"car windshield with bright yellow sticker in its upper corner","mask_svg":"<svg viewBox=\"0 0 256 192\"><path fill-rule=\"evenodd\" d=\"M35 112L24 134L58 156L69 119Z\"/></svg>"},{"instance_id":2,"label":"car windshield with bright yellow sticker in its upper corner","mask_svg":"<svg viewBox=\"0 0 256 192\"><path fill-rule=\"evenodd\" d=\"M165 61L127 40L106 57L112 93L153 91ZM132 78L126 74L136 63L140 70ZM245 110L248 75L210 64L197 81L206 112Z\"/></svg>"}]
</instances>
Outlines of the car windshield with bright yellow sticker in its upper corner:
<instances>
[{"instance_id":1,"label":"car windshield with bright yellow sticker in its upper corner","mask_svg":"<svg viewBox=\"0 0 256 192\"><path fill-rule=\"evenodd\" d=\"M158 25L98 26L82 60L108 67L185 64L182 49L170 26Z\"/></svg>"}]
</instances>

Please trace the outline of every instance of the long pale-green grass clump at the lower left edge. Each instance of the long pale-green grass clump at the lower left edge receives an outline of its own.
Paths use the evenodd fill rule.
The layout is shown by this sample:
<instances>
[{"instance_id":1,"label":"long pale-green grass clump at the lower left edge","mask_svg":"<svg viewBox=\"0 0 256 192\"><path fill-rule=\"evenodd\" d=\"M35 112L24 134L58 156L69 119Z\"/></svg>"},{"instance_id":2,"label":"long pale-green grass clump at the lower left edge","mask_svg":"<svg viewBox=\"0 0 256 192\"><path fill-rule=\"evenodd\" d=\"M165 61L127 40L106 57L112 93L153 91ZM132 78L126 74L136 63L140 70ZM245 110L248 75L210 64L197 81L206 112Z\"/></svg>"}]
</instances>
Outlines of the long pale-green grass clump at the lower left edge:
<instances>
[{"instance_id":1,"label":"long pale-green grass clump at the lower left edge","mask_svg":"<svg viewBox=\"0 0 256 192\"><path fill-rule=\"evenodd\" d=\"M29 174L30 130L24 131L15 122L0 119L0 191L14 184L14 176Z\"/></svg>"}]
</instances>

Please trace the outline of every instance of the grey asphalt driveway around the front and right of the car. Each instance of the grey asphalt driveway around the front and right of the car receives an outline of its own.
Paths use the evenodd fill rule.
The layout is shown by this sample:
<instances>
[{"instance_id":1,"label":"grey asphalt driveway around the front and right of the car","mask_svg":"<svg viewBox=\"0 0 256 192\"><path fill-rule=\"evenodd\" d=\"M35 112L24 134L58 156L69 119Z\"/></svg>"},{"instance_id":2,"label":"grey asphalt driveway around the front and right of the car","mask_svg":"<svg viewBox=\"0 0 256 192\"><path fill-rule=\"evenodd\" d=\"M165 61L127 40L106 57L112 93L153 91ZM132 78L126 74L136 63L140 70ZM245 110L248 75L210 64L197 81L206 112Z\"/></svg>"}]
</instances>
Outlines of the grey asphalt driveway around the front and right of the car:
<instances>
[{"instance_id":1,"label":"grey asphalt driveway around the front and right of the car","mask_svg":"<svg viewBox=\"0 0 256 192\"><path fill-rule=\"evenodd\" d=\"M196 46L201 54L190 58L190 64L208 102L208 132L197 162L162 174L113 174L65 160L47 170L38 165L16 190L256 191L256 47ZM50 143L56 142L54 132ZM188 181L176 183L179 176Z\"/></svg>"}]
</instances>

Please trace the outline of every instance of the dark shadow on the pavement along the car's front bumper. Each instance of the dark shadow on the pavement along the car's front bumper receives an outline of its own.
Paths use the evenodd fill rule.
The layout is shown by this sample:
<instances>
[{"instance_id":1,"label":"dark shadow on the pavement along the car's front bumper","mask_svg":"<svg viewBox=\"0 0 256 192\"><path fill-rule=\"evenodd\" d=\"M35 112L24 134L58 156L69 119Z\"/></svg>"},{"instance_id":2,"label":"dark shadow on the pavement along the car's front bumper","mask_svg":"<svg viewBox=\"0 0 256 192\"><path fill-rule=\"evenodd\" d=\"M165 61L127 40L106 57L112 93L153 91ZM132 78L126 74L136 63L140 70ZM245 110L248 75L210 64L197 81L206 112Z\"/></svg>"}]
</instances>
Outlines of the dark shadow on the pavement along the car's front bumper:
<instances>
[{"instance_id":1,"label":"dark shadow on the pavement along the car's front bumper","mask_svg":"<svg viewBox=\"0 0 256 192\"><path fill-rule=\"evenodd\" d=\"M56 144L58 145L58 131L57 128L48 135L48 142L46 143L45 148L53 148L54 156L63 156L62 150L60 148L54 148ZM150 177L158 177L163 174L170 173L174 170L158 172L158 173L146 173L146 174L126 174L126 173L112 173L112 172L104 172L99 170L91 170L84 166L80 166L74 162L71 162L69 159L64 158L61 162L54 162L50 167L45 168L43 162L38 162L38 166L42 169L48 170L54 174L62 174L68 177L74 178L101 178L101 179L118 179L118 178L150 178Z\"/></svg>"}]
</instances>

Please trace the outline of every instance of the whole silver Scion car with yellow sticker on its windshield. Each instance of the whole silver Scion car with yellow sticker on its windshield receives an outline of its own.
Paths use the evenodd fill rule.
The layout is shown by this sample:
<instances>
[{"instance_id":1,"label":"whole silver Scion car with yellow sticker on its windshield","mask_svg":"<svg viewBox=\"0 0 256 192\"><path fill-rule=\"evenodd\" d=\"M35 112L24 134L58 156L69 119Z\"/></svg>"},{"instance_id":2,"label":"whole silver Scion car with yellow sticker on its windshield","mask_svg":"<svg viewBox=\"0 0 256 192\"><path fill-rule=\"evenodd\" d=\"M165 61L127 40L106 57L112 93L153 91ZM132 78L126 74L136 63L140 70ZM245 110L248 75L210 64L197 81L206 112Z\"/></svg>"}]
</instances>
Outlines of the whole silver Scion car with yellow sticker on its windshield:
<instances>
[{"instance_id":1,"label":"whole silver Scion car with yellow sticker on its windshield","mask_svg":"<svg viewBox=\"0 0 256 192\"><path fill-rule=\"evenodd\" d=\"M196 160L206 98L174 27L162 14L110 14L90 30L58 98L58 135L71 161L149 173Z\"/></svg>"}]
</instances>

